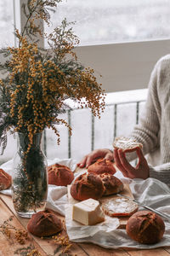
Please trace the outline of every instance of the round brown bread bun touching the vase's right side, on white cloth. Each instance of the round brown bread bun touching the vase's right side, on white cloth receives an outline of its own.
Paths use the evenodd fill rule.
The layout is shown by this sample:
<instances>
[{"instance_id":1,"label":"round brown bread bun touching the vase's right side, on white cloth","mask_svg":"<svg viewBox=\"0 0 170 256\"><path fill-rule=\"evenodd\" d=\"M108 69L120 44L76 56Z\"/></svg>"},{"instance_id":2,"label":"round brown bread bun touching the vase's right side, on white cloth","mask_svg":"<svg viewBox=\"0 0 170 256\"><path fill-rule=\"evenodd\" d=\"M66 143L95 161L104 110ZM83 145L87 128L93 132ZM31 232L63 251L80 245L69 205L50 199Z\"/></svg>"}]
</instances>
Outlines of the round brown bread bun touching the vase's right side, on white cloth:
<instances>
[{"instance_id":1,"label":"round brown bread bun touching the vase's right side, on white cloth","mask_svg":"<svg viewBox=\"0 0 170 256\"><path fill-rule=\"evenodd\" d=\"M73 179L74 174L69 167L59 164L48 166L48 184L67 186L71 184Z\"/></svg>"}]
</instances>

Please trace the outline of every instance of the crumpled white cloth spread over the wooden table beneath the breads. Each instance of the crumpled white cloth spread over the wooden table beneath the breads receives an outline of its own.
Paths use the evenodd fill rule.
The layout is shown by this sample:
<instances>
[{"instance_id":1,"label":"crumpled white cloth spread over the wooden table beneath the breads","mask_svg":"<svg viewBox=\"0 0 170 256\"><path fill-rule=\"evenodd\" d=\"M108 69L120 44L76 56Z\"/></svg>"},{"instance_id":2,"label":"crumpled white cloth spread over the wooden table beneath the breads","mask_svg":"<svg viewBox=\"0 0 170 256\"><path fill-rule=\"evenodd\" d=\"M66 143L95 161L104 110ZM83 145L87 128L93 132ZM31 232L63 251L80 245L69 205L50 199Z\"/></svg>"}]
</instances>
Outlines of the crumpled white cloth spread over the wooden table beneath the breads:
<instances>
[{"instance_id":1,"label":"crumpled white cloth spread over the wooden table beneath the breads","mask_svg":"<svg viewBox=\"0 0 170 256\"><path fill-rule=\"evenodd\" d=\"M76 161L71 159L48 160L48 165L54 163L69 166L72 171L76 167ZM3 164L1 168L5 172L12 174L12 160ZM121 172L116 172L116 177L121 178L124 183L129 183L135 199L170 216L170 188L165 183L161 183L161 181L154 178L130 180L122 177ZM2 190L1 193L11 195L11 189ZM47 207L65 215L67 234L71 241L92 242L106 248L134 247L149 249L170 246L170 220L167 219L164 219L166 230L162 240L154 245L142 245L130 239L126 230L116 230L116 218L112 225L111 218L106 218L103 224L94 226L84 226L72 221L69 213L71 205L68 205L67 189L65 187L49 185ZM144 208L139 208L139 210L144 210Z\"/></svg>"}]
</instances>

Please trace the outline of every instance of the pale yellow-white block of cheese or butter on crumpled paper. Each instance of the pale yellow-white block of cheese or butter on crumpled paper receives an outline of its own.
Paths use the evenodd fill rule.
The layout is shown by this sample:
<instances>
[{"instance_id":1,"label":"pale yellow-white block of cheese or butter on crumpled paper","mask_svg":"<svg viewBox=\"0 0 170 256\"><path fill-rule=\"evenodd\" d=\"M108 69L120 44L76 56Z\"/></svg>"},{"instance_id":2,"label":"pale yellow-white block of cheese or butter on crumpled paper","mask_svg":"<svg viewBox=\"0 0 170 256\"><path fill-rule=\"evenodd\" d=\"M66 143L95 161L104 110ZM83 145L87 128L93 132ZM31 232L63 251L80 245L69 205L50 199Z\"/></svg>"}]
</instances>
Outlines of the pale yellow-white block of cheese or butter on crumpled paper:
<instances>
[{"instance_id":1,"label":"pale yellow-white block of cheese or butter on crumpled paper","mask_svg":"<svg viewBox=\"0 0 170 256\"><path fill-rule=\"evenodd\" d=\"M80 201L72 207L72 219L84 225L94 225L105 220L99 201L92 198Z\"/></svg>"}]
</instances>

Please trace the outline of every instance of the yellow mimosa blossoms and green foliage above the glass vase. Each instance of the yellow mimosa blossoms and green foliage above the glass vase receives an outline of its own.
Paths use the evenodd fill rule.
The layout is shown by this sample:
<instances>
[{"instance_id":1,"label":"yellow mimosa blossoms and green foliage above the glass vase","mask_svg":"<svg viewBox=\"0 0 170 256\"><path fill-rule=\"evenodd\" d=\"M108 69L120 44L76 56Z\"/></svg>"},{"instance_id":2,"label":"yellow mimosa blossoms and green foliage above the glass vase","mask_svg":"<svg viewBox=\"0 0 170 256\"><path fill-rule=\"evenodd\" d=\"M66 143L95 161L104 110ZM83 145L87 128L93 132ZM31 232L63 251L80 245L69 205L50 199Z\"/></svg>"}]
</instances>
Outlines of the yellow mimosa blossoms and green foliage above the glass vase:
<instances>
[{"instance_id":1,"label":"yellow mimosa blossoms and green foliage above the glass vase","mask_svg":"<svg viewBox=\"0 0 170 256\"><path fill-rule=\"evenodd\" d=\"M6 147L7 131L26 133L29 137L28 153L32 138L44 128L52 128L59 141L56 124L66 126L59 113L65 111L65 99L80 103L81 108L92 109L99 116L105 106L104 91L94 76L94 70L77 61L74 47L79 43L71 23L63 20L54 32L42 33L37 20L49 24L50 9L62 0L28 0L22 5L26 24L19 32L17 47L2 49L6 61L0 70L6 77L0 80L0 146ZM48 49L38 47L37 38L48 40ZM82 101L82 99L84 101ZM71 127L69 127L71 130Z\"/></svg>"}]
</instances>

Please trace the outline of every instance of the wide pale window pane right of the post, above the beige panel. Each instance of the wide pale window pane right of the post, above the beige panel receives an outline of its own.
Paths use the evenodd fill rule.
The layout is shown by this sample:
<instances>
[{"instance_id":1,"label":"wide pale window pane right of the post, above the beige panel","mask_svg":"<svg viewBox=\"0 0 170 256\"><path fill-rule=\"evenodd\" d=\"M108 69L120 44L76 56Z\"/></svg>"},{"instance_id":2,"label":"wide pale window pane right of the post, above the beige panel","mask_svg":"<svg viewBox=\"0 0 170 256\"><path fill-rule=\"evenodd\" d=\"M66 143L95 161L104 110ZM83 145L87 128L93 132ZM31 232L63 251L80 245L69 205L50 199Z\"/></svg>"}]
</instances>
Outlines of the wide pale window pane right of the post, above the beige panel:
<instances>
[{"instance_id":1,"label":"wide pale window pane right of the post, above the beige panel","mask_svg":"<svg viewBox=\"0 0 170 256\"><path fill-rule=\"evenodd\" d=\"M169 9L169 0L64 0L45 31L66 17L82 45L169 38Z\"/></svg>"}]
</instances>

